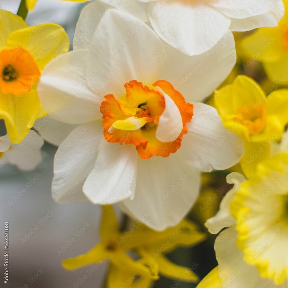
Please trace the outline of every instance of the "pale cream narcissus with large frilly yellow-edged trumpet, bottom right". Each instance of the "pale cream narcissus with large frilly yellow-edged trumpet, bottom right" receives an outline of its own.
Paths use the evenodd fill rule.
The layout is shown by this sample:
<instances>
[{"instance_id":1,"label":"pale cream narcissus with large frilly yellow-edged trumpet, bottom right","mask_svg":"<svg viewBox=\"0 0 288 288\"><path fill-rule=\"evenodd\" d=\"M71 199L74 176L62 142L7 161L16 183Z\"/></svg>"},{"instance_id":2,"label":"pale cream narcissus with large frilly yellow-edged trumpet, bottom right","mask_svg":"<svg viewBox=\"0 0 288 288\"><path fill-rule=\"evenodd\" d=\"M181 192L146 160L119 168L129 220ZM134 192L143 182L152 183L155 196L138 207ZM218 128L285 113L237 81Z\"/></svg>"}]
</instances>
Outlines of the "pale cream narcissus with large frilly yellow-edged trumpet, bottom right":
<instances>
[{"instance_id":1,"label":"pale cream narcissus with large frilly yellow-edged trumpet, bottom right","mask_svg":"<svg viewBox=\"0 0 288 288\"><path fill-rule=\"evenodd\" d=\"M215 240L219 278L214 270L205 281L223 284L233 274L228 287L287 287L288 153L260 162L249 180L232 174L234 188L205 224L215 234L230 227ZM205 281L199 287L214 287Z\"/></svg>"}]
</instances>

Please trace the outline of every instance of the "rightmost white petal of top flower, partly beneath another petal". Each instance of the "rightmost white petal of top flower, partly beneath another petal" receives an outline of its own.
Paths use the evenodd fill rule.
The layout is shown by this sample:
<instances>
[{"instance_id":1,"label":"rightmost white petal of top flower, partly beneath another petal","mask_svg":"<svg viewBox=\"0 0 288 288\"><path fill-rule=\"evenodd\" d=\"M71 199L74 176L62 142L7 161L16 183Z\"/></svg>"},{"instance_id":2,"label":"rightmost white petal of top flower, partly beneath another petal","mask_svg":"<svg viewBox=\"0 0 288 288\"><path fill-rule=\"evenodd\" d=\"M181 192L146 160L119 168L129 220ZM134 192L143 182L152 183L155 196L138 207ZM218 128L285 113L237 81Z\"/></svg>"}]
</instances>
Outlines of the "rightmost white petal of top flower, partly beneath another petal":
<instances>
[{"instance_id":1,"label":"rightmost white petal of top flower, partly beneath another petal","mask_svg":"<svg viewBox=\"0 0 288 288\"><path fill-rule=\"evenodd\" d=\"M259 27L274 27L278 25L284 14L282 1L274 6L269 12L262 15L251 16L244 19L231 18L229 29L231 31L249 31Z\"/></svg>"}]
</instances>

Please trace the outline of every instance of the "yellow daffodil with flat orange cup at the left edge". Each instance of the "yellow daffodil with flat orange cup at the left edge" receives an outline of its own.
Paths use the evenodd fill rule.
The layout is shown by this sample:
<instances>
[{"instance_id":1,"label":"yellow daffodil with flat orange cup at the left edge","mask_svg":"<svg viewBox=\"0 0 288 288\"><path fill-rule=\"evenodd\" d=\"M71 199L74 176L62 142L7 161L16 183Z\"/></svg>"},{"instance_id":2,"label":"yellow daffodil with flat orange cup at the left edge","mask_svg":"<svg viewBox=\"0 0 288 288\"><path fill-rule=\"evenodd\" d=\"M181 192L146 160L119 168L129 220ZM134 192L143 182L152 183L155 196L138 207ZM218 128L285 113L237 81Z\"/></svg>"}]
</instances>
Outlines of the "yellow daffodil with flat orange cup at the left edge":
<instances>
[{"instance_id":1,"label":"yellow daffodil with flat orange cup at the left edge","mask_svg":"<svg viewBox=\"0 0 288 288\"><path fill-rule=\"evenodd\" d=\"M44 66L68 50L69 38L61 26L29 27L21 17L0 10L0 119L11 142L21 142L35 119L47 114L37 81Z\"/></svg>"}]
</instances>

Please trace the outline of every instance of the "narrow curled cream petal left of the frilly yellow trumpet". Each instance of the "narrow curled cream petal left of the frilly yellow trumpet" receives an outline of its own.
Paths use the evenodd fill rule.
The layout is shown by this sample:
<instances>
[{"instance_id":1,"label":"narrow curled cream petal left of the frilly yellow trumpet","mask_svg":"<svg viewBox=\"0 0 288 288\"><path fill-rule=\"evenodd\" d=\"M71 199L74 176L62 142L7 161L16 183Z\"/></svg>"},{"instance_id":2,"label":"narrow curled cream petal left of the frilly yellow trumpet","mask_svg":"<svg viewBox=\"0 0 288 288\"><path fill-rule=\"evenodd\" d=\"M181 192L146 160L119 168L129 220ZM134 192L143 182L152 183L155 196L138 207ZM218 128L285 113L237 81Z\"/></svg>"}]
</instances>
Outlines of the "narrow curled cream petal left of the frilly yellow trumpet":
<instances>
[{"instance_id":1,"label":"narrow curled cream petal left of the frilly yellow trumpet","mask_svg":"<svg viewBox=\"0 0 288 288\"><path fill-rule=\"evenodd\" d=\"M230 202L234 199L239 185L244 181L245 177L240 173L232 172L227 175L227 183L234 184L234 186L222 199L217 214L206 221L205 226L210 233L217 234L223 228L236 224L236 220L230 212Z\"/></svg>"}]
</instances>

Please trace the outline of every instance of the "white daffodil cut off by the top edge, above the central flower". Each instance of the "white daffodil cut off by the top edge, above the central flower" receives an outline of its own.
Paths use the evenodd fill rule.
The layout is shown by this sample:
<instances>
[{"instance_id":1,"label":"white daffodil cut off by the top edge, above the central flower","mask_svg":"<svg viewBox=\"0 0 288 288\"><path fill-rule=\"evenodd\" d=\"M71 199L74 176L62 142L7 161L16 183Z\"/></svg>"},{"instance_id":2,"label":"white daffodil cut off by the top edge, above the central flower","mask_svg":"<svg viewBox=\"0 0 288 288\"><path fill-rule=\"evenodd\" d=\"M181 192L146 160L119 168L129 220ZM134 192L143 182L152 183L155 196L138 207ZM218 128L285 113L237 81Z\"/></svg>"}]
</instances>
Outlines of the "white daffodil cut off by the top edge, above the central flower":
<instances>
[{"instance_id":1,"label":"white daffodil cut off by the top edge, above the central flower","mask_svg":"<svg viewBox=\"0 0 288 288\"><path fill-rule=\"evenodd\" d=\"M105 3L102 13L112 6L150 21L165 42L190 56L211 49L227 29L249 31L273 27L284 15L284 5L279 0L102 1Z\"/></svg>"}]
</instances>

